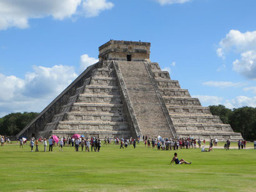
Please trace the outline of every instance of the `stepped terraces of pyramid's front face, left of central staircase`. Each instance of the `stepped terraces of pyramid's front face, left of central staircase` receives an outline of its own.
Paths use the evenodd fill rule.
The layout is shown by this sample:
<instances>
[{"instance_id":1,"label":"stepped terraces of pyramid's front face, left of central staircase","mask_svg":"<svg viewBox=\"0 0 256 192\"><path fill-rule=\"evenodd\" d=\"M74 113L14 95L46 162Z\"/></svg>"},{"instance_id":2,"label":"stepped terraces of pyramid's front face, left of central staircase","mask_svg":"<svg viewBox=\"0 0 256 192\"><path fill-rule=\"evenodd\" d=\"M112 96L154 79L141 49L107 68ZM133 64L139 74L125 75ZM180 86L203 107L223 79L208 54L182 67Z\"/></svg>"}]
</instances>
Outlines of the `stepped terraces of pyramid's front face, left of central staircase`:
<instances>
[{"instance_id":1,"label":"stepped terraces of pyramid's front face, left of central staircase","mask_svg":"<svg viewBox=\"0 0 256 192\"><path fill-rule=\"evenodd\" d=\"M76 89L39 135L49 132L59 137L74 133L100 138L130 136L111 62L102 62L102 66L92 71L91 77Z\"/></svg>"}]
</instances>

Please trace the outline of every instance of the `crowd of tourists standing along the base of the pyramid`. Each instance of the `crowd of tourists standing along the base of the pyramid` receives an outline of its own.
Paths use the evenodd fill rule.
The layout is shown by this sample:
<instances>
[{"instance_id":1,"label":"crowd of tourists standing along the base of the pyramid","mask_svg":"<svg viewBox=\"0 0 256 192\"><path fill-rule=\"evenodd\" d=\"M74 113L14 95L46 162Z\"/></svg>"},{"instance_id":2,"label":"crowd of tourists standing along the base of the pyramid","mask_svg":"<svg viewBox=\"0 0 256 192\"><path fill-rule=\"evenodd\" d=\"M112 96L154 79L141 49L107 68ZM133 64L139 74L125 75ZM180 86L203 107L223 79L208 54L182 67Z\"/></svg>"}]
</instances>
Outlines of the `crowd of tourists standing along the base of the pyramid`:
<instances>
[{"instance_id":1,"label":"crowd of tourists standing along the base of the pyramid","mask_svg":"<svg viewBox=\"0 0 256 192\"><path fill-rule=\"evenodd\" d=\"M56 136L55 136L56 137ZM113 140L113 141L112 141ZM0 135L0 142L1 146L4 146L4 144L11 143L11 140L9 137L4 137ZM23 148L23 145L26 144L27 139L26 138L18 138L17 142L19 142L19 147ZM179 150L179 149L189 149L189 148L201 148L202 151L211 151L213 146L218 145L217 138L211 139L209 141L209 150L205 150L205 140L195 139L195 138L162 138L162 137L152 137L149 138L147 135L142 136L142 142L145 145L145 148L157 148L157 150ZM125 138L125 137L115 137L114 139L110 137L104 138L104 145L110 145L113 143L114 145L120 145L121 148L127 148L128 146L132 145L134 148L136 148L136 145L139 145L140 142L140 136L138 138ZM238 148L244 149L246 148L247 142L246 140L239 140L238 142ZM84 137L57 137L57 140L53 137L50 137L48 140L46 138L39 137L38 139L35 139L34 137L31 138L31 142L29 145L31 146L31 151L35 149L35 151L38 151L39 144L44 145L44 151L47 151L47 145L49 145L49 151L52 151L53 146L59 146L59 150L63 150L63 146L73 146L75 147L76 151L100 151L101 149L101 140L97 137L91 137L91 138L84 138ZM230 148L230 141L227 140L227 142L224 145L224 148L226 150L229 150ZM256 140L254 140L254 149L256 149Z\"/></svg>"}]
</instances>

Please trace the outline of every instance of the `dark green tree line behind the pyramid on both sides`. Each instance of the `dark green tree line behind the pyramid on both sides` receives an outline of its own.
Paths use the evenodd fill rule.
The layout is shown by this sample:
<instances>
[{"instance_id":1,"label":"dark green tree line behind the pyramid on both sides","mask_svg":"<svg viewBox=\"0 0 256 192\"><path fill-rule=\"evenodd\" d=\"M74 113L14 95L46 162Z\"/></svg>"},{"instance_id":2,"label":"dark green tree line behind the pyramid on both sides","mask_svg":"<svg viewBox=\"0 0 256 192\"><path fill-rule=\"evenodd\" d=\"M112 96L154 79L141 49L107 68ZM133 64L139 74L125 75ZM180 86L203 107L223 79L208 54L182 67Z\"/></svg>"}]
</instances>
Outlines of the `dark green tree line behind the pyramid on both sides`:
<instances>
[{"instance_id":1,"label":"dark green tree line behind the pyramid on both sides","mask_svg":"<svg viewBox=\"0 0 256 192\"><path fill-rule=\"evenodd\" d=\"M224 105L210 105L209 108L212 115L218 115L223 123L231 125L234 132L242 133L244 139L256 138L256 108L240 107L231 110ZM0 135L17 135L37 115L39 113L10 113L0 118Z\"/></svg>"}]
</instances>

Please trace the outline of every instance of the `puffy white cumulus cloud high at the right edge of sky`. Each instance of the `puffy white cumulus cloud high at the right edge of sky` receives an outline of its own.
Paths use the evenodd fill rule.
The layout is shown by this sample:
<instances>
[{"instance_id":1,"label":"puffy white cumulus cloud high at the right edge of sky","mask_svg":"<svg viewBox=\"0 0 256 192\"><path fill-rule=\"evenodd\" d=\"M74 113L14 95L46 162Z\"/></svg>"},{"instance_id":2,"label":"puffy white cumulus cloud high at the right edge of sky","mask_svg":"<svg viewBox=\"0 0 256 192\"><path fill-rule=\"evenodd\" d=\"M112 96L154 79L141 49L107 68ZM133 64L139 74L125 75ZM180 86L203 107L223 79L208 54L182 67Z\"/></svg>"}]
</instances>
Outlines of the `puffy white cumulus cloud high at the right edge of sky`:
<instances>
[{"instance_id":1,"label":"puffy white cumulus cloud high at the right edge of sky","mask_svg":"<svg viewBox=\"0 0 256 192\"><path fill-rule=\"evenodd\" d=\"M225 59L230 51L240 54L233 62L233 70L249 79L256 79L256 31L240 32L230 30L219 42L217 55Z\"/></svg>"}]
</instances>

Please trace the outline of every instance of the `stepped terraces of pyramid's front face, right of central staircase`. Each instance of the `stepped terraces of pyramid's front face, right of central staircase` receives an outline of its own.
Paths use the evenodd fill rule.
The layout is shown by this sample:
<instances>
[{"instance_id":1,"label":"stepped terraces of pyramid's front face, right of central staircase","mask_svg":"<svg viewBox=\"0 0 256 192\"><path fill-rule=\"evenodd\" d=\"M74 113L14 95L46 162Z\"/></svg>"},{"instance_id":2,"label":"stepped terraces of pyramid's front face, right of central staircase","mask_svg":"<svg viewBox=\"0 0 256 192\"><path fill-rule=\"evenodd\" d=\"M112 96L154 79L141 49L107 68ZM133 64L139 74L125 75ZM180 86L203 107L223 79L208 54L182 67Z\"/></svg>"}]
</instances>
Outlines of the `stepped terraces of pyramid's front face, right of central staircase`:
<instances>
[{"instance_id":1,"label":"stepped terraces of pyramid's front face, right of central staircase","mask_svg":"<svg viewBox=\"0 0 256 192\"><path fill-rule=\"evenodd\" d=\"M240 133L233 132L230 125L212 115L209 107L202 107L198 98L192 98L187 89L181 89L177 80L171 80L159 64L151 62L150 69L179 137L218 138L220 141L242 139Z\"/></svg>"}]
</instances>

